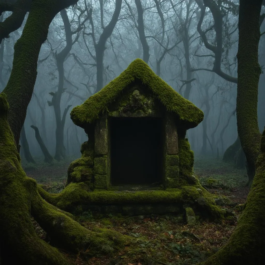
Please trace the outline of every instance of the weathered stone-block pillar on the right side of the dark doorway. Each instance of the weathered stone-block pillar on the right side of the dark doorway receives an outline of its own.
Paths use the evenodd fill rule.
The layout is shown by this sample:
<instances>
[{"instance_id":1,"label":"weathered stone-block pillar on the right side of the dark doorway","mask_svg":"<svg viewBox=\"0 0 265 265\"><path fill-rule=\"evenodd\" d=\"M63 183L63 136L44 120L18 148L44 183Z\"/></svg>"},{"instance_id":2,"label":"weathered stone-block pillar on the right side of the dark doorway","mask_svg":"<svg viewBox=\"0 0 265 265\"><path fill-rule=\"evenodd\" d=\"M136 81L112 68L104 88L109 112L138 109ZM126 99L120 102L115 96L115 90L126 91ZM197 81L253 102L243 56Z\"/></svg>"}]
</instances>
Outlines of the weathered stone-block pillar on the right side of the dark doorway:
<instances>
[{"instance_id":1,"label":"weathered stone-block pillar on the right side of the dark doorway","mask_svg":"<svg viewBox=\"0 0 265 265\"><path fill-rule=\"evenodd\" d=\"M173 116L166 115L165 185L176 188L179 184L178 133Z\"/></svg>"}]
</instances>

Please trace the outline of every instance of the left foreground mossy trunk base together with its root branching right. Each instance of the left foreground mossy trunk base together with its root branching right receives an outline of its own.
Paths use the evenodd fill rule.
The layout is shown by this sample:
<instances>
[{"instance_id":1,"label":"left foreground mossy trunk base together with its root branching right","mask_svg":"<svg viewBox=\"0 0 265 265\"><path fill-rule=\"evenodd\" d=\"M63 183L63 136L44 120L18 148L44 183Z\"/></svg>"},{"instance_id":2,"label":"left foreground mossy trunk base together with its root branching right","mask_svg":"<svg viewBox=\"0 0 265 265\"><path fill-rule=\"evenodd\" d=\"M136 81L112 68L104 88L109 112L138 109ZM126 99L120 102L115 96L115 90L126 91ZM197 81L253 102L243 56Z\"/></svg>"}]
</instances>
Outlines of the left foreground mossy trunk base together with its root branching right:
<instances>
[{"instance_id":1,"label":"left foreground mossy trunk base together with its root branching right","mask_svg":"<svg viewBox=\"0 0 265 265\"><path fill-rule=\"evenodd\" d=\"M102 246L117 251L130 244L118 232L87 230L73 215L48 204L37 191L36 180L28 178L20 163L14 135L7 121L6 94L0 94L0 260L3 264L69 265L64 254L36 234L31 217L47 232L51 244L76 252Z\"/></svg>"}]
</instances>

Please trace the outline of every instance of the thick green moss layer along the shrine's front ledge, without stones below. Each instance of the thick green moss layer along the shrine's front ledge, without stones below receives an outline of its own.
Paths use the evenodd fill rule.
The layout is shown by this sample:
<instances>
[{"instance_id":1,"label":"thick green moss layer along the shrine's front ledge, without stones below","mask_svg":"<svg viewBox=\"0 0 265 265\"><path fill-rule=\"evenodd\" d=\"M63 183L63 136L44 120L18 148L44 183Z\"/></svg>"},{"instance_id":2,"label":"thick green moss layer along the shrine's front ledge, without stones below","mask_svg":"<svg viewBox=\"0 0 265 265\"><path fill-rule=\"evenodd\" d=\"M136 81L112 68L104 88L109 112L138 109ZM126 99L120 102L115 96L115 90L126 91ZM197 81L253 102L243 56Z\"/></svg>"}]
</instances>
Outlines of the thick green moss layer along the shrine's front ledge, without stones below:
<instances>
[{"instance_id":1,"label":"thick green moss layer along the shrine's front ledge, without stones below","mask_svg":"<svg viewBox=\"0 0 265 265\"><path fill-rule=\"evenodd\" d=\"M176 179L177 180L177 179ZM181 189L166 191L93 191L89 192L85 183L70 183L59 194L49 194L39 187L39 193L48 202L62 210L73 212L77 205L126 205L173 203L195 205L213 219L222 218L222 212L215 205L214 197L200 185L182 186ZM200 203L203 198L203 203ZM135 207L135 206L133 206ZM152 206L153 207L153 206Z\"/></svg>"}]
</instances>

